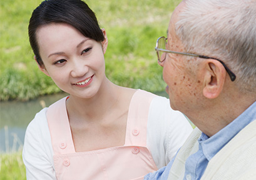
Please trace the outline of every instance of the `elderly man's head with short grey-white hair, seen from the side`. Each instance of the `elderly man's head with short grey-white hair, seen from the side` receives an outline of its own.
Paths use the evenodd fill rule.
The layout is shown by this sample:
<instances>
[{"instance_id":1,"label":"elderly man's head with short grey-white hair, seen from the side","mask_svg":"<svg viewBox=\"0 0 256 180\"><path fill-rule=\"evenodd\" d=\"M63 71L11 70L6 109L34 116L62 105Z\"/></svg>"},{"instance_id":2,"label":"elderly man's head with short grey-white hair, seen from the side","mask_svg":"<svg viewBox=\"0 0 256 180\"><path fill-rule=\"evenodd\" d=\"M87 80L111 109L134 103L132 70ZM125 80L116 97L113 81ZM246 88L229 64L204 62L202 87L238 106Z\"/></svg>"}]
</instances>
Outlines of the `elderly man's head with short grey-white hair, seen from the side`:
<instances>
[{"instance_id":1,"label":"elderly man's head with short grey-white hair, seen from the side","mask_svg":"<svg viewBox=\"0 0 256 180\"><path fill-rule=\"evenodd\" d=\"M166 50L200 56L162 55L159 64L172 108L202 119L203 112L212 117L215 110L220 116L220 110L231 111L232 98L255 98L255 19L254 0L186 0L175 9Z\"/></svg>"}]
</instances>

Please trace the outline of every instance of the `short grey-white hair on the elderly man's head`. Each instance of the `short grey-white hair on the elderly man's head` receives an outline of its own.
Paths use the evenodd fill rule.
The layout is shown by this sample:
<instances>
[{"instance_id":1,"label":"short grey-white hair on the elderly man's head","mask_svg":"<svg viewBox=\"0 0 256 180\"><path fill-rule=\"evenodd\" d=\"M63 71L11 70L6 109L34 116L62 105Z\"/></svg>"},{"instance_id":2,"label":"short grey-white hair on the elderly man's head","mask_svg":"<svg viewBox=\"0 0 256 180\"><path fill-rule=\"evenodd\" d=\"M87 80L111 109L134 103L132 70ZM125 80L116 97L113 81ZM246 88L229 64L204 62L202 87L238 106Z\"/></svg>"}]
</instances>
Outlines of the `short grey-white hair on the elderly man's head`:
<instances>
[{"instance_id":1,"label":"short grey-white hair on the elderly man's head","mask_svg":"<svg viewBox=\"0 0 256 180\"><path fill-rule=\"evenodd\" d=\"M222 60L242 92L256 92L256 0L185 3L175 24L185 50Z\"/></svg>"}]
</instances>

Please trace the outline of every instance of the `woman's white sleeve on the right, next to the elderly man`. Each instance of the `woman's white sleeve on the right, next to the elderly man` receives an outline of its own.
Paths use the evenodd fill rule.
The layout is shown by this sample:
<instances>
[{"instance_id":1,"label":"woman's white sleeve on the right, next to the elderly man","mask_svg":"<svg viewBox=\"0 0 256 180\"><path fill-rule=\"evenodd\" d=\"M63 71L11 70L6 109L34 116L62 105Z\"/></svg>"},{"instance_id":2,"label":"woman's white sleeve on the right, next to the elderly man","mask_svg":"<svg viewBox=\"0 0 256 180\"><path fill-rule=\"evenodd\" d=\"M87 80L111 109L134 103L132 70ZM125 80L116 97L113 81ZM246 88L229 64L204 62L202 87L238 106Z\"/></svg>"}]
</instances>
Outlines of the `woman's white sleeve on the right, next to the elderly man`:
<instances>
[{"instance_id":1,"label":"woman's white sleeve on the right, next to the elderly man","mask_svg":"<svg viewBox=\"0 0 256 180\"><path fill-rule=\"evenodd\" d=\"M185 115L172 110L167 98L156 97L152 100L146 141L158 169L172 160L192 130Z\"/></svg>"}]
</instances>

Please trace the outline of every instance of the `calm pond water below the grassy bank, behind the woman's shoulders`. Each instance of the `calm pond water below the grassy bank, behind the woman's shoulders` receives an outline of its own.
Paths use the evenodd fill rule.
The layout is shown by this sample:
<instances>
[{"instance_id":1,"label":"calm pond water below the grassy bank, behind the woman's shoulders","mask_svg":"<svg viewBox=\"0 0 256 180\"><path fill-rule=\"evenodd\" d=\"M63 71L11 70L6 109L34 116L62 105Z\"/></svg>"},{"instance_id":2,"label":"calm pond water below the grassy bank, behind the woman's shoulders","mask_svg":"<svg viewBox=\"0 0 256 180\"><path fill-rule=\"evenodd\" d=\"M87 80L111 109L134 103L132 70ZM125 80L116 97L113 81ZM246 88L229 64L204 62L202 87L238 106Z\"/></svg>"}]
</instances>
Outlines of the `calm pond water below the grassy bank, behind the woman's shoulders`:
<instances>
[{"instance_id":1,"label":"calm pond water below the grassy bank, behind the woman's shoulders","mask_svg":"<svg viewBox=\"0 0 256 180\"><path fill-rule=\"evenodd\" d=\"M165 92L155 94L168 97ZM67 95L67 93L59 93L28 102L0 102L0 153L21 150L26 127L36 113Z\"/></svg>"}]
</instances>

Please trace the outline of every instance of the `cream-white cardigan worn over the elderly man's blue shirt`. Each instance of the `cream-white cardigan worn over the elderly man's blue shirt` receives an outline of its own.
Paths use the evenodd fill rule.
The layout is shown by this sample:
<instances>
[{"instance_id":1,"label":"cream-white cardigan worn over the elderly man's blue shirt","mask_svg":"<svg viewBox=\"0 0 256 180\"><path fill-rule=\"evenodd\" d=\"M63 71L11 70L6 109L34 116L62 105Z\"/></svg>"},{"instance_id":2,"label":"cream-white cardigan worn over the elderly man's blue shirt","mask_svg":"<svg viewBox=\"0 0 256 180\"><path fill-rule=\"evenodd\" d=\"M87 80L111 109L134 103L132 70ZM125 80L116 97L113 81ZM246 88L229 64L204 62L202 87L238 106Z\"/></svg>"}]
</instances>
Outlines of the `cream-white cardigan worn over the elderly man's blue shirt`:
<instances>
[{"instance_id":1,"label":"cream-white cardigan worn over the elderly man's blue shirt","mask_svg":"<svg viewBox=\"0 0 256 180\"><path fill-rule=\"evenodd\" d=\"M168 180L183 179L185 161L198 150L202 134L195 128L175 158ZM208 163L201 180L256 179L256 120L252 121L228 142Z\"/></svg>"}]
</instances>

